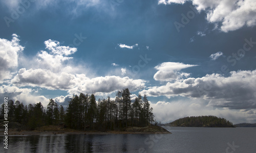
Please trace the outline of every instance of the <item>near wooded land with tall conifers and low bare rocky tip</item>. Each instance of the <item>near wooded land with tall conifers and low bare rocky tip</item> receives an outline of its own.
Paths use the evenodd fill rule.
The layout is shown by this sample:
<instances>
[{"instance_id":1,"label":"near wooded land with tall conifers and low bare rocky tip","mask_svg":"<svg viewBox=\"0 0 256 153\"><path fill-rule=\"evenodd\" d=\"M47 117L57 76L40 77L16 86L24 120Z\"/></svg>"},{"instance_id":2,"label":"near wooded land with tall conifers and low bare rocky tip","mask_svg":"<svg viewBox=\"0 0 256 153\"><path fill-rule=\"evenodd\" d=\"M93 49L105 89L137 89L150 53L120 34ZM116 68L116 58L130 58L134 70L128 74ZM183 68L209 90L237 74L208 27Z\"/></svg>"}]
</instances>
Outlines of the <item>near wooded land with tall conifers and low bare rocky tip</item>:
<instances>
[{"instance_id":1,"label":"near wooded land with tall conifers and low bare rocky tip","mask_svg":"<svg viewBox=\"0 0 256 153\"><path fill-rule=\"evenodd\" d=\"M16 100L6 101L0 109L0 121L8 119L8 134L163 134L170 133L154 120L153 108L139 94L131 99L128 88L118 91L113 99L99 98L94 94L73 95L68 104L58 105L49 99L47 107L42 104L25 105ZM0 127L4 125L0 124Z\"/></svg>"}]
</instances>

